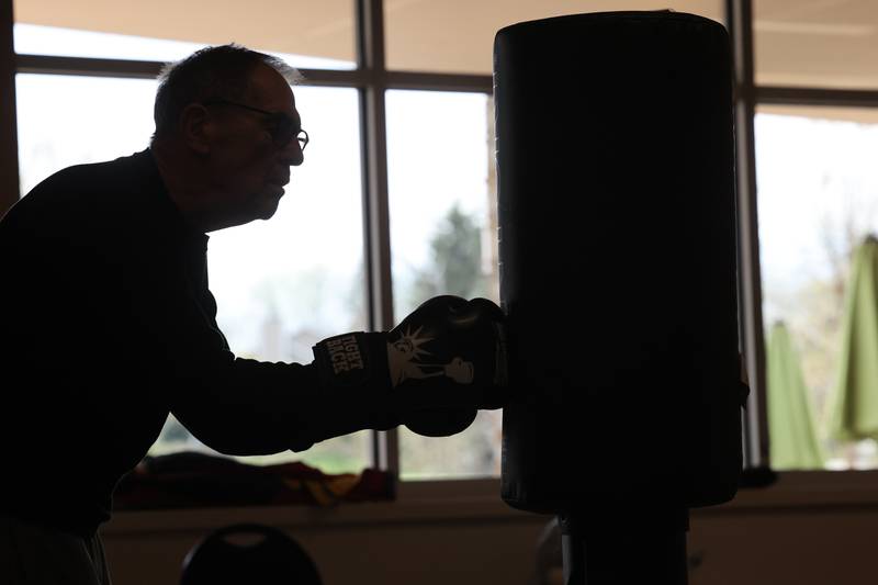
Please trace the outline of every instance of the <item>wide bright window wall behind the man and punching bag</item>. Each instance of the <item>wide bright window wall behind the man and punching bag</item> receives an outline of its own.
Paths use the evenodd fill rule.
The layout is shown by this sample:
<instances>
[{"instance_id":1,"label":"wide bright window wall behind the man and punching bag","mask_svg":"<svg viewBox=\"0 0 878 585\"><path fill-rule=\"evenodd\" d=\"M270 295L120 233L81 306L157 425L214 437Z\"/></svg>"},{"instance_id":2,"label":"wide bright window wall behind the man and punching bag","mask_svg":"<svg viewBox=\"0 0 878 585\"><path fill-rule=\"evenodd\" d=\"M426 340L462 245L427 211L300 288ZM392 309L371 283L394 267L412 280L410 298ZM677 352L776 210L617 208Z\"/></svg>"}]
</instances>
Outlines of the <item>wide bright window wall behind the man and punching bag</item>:
<instances>
[{"instance_id":1,"label":"wide bright window wall behind the man and punching bag","mask_svg":"<svg viewBox=\"0 0 878 585\"><path fill-rule=\"evenodd\" d=\"M311 359L315 340L398 320L434 292L496 299L489 147L494 34L530 19L618 10L615 2L603 1L537 7L497 0L443 3L441 9L383 2L381 35L373 34L380 27L365 31L367 22L357 16L362 11L354 8L370 4L350 0L322 2L318 8L308 3L307 9L297 1L279 7L259 0L236 4L234 10L246 10L247 18L224 13L222 22L202 21L201 27L187 18L169 23L169 2L126 4L124 14L121 8L87 10L81 2L53 4L52 10L44 4L14 3L22 192L64 166L145 147L151 133L153 78L161 61L204 44L236 41L307 69L296 95L314 140L308 164L294 173L296 182L280 214L268 224L211 239L212 289L233 347L241 355L297 361ZM818 426L825 417L836 367L833 336L843 306L837 283L846 271L845 246L876 228L869 211L878 200L876 176L871 161L863 158L876 151L878 127L875 11L869 0L642 0L626 7L665 8L722 22L723 8L730 8L739 15L730 25L736 56L755 50L755 71L745 70L743 59L738 63L739 103L751 110L758 106L755 117L739 119L738 128L740 158L755 167L752 184L746 173L739 173L742 209L755 209L741 217L746 291L742 319L754 331L744 349L756 365L750 372L754 387L764 397L763 340L773 323L788 324ZM250 22L256 24L240 25ZM0 25L13 29L8 20ZM382 36L384 46L376 47ZM363 55L354 49L358 46ZM384 53L386 63L380 58ZM376 90L378 99L367 99L369 90ZM8 106L0 101L0 108ZM742 120L755 122L754 135ZM77 126L79 121L89 121L88 131ZM386 125L379 127L376 121ZM90 139L82 139L86 136ZM2 139L12 143L8 134ZM361 165L361 159L370 164ZM376 169L379 175L386 170L386 184L381 177L372 180ZM373 175L363 180L364 173ZM813 203L802 204L806 198ZM363 215L363 202L379 202L379 209ZM362 246L363 217L380 214L382 203L387 222L375 224L383 232L370 243L390 243L386 259ZM845 217L855 229L848 229ZM345 234L338 245L346 254L317 254L314 243L320 234L311 228L326 225ZM450 254L442 238L449 234L466 234L472 245L465 250L465 277L447 278L448 271L441 270L448 263L442 254ZM259 246L272 259L248 261L252 252L245 246ZM755 250L752 256L744 254L747 246ZM308 254L296 254L300 249ZM375 281L383 286L374 286ZM380 292L367 296L367 282ZM393 311L384 314L391 296ZM813 328L808 319L813 320L818 310L824 317ZM765 412L751 413L765 421ZM449 439L423 439L401 428L382 436L389 438L384 454L405 480L492 477L498 473L499 427L499 413L482 413L466 432ZM750 436L765 447L766 437L757 436L757 428L752 425ZM173 421L162 439L156 449L191 447ZM302 457L328 470L351 471L378 464L372 455L380 443L373 434L363 432L327 441ZM868 441L822 445L828 469L878 465ZM462 453L472 457L464 461Z\"/></svg>"}]
</instances>

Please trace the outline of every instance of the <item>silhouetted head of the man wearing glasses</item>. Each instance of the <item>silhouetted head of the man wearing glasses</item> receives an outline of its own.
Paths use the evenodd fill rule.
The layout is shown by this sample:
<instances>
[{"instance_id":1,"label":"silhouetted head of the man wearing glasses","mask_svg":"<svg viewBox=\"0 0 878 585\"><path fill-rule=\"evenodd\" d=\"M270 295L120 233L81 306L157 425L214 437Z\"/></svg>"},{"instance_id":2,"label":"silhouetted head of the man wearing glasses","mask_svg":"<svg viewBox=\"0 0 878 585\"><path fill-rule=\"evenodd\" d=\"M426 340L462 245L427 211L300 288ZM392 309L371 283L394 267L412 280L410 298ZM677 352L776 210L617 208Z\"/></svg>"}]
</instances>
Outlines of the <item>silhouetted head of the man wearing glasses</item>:
<instances>
[{"instance_id":1,"label":"silhouetted head of the man wearing glasses","mask_svg":"<svg viewBox=\"0 0 878 585\"><path fill-rule=\"evenodd\" d=\"M299 77L236 45L201 49L162 71L153 147L171 196L199 228L277 211L307 136L290 88Z\"/></svg>"}]
</instances>

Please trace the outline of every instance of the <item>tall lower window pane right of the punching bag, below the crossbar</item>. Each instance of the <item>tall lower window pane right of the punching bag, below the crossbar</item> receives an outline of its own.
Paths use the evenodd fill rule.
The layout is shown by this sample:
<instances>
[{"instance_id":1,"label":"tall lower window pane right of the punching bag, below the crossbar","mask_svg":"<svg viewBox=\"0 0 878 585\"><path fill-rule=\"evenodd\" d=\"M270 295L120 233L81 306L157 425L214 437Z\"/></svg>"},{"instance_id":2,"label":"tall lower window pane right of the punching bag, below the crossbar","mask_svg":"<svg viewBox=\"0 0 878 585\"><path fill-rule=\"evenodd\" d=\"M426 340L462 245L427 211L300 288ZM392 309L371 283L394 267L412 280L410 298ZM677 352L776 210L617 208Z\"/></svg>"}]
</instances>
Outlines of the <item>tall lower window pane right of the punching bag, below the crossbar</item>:
<instances>
[{"instance_id":1,"label":"tall lower window pane right of the punching bag, below the crossbar","mask_svg":"<svg viewBox=\"0 0 878 585\"><path fill-rule=\"evenodd\" d=\"M831 432L840 393L849 392L841 372L852 255L878 233L876 153L878 110L785 106L756 115L769 431L780 469L878 466L875 441L842 441ZM779 323L791 352L777 345ZM863 353L867 347L858 351L878 361ZM789 382L797 375L799 390Z\"/></svg>"}]
</instances>

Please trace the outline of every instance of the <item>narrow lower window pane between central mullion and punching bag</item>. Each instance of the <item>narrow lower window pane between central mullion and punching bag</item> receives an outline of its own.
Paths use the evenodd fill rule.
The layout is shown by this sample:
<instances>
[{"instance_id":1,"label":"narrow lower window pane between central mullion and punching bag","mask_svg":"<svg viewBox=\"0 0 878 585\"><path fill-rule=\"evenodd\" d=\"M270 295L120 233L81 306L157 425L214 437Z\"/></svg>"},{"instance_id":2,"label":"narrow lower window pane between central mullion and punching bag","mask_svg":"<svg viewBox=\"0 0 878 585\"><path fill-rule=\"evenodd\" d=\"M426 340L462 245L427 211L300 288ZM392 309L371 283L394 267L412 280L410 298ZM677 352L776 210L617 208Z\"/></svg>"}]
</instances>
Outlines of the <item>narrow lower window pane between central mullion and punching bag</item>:
<instances>
[{"instance_id":1,"label":"narrow lower window pane between central mullion and punching bag","mask_svg":"<svg viewBox=\"0 0 878 585\"><path fill-rule=\"evenodd\" d=\"M438 294L498 300L493 103L482 93L387 92L394 316ZM464 432L401 428L403 479L499 473L499 410Z\"/></svg>"}]
</instances>

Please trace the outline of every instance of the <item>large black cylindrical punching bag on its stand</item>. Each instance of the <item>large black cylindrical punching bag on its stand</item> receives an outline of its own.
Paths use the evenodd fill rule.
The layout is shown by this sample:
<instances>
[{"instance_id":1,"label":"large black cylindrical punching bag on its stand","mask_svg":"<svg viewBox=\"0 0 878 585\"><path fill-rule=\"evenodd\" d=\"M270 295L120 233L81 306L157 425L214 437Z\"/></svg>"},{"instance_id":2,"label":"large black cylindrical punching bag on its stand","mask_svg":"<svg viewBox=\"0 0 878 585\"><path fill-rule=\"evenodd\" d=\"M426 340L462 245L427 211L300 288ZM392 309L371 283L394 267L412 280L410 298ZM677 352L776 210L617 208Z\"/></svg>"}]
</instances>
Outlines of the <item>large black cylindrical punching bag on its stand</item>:
<instances>
[{"instance_id":1,"label":"large black cylindrical punching bag on its stand","mask_svg":"<svg viewBox=\"0 0 878 585\"><path fill-rule=\"evenodd\" d=\"M671 11L494 44L503 498L558 514L567 582L685 583L688 510L741 472L730 41Z\"/></svg>"}]
</instances>

